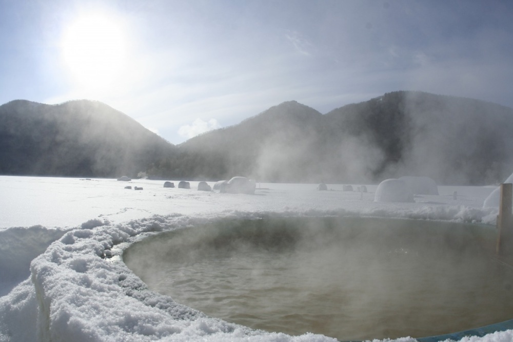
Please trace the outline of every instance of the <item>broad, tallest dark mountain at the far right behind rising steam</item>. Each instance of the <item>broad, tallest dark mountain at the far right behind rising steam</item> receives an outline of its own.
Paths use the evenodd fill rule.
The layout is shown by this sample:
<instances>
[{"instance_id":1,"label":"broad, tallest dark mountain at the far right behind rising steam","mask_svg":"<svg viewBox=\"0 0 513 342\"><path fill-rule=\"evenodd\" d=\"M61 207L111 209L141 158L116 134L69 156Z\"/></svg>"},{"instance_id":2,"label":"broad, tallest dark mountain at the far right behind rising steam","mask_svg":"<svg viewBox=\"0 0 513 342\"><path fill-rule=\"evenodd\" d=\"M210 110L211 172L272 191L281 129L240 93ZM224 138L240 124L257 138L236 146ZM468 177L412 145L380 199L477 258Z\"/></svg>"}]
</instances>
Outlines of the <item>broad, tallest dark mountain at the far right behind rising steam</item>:
<instances>
[{"instance_id":1,"label":"broad, tallest dark mountain at the far right behind rising steam","mask_svg":"<svg viewBox=\"0 0 513 342\"><path fill-rule=\"evenodd\" d=\"M356 140L377 180L418 175L444 184L486 184L513 172L513 109L508 107L397 91L334 109L325 118L345 140Z\"/></svg>"}]
</instances>

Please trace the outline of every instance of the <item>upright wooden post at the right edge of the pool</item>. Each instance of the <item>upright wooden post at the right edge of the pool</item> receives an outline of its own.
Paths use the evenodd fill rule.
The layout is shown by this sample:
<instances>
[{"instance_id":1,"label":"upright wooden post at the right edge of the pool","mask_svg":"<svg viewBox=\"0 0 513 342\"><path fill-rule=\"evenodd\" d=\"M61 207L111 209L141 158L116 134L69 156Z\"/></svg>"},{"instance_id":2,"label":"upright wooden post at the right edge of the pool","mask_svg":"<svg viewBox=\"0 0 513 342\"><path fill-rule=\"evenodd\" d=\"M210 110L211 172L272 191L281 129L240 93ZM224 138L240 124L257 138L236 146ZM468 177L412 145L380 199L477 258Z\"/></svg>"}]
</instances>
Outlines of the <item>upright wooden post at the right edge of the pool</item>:
<instances>
[{"instance_id":1,"label":"upright wooden post at the right edge of the pool","mask_svg":"<svg viewBox=\"0 0 513 342\"><path fill-rule=\"evenodd\" d=\"M511 256L513 253L513 219L511 218L511 195L513 184L501 184L501 202L499 204L499 217L497 226L499 236L497 237L497 254L500 256Z\"/></svg>"}]
</instances>

